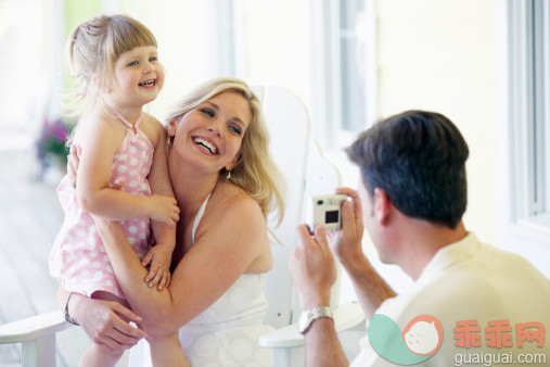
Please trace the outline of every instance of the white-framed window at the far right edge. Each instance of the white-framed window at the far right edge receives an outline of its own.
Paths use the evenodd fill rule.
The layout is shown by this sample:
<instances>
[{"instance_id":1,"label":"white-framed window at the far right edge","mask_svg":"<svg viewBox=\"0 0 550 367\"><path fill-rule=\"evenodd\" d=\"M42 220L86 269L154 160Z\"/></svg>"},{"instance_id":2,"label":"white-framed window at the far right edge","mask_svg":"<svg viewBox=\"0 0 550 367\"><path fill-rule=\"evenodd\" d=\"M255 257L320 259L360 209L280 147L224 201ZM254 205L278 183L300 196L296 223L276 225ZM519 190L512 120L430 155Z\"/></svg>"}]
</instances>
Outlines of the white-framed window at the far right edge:
<instances>
[{"instance_id":1,"label":"white-framed window at the far right edge","mask_svg":"<svg viewBox=\"0 0 550 367\"><path fill-rule=\"evenodd\" d=\"M550 262L550 4L503 3L508 105L501 153L501 242L546 275Z\"/></svg>"}]
</instances>

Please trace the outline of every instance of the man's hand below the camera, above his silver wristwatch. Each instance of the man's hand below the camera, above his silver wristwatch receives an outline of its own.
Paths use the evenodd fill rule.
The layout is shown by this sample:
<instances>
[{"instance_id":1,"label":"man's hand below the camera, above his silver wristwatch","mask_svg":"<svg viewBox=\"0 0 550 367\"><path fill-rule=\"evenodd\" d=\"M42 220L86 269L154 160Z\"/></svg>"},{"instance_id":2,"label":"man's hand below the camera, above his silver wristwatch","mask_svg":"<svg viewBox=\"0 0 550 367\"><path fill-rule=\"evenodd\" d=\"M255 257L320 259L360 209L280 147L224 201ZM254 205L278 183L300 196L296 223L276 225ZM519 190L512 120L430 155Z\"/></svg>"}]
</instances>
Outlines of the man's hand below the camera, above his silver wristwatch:
<instances>
[{"instance_id":1,"label":"man's hand below the camera, above his silver wristwatch","mask_svg":"<svg viewBox=\"0 0 550 367\"><path fill-rule=\"evenodd\" d=\"M290 268L302 309L329 306L331 288L336 281L336 264L324 227L316 227L315 238L306 225L298 226L296 231L299 243L291 256Z\"/></svg>"}]
</instances>

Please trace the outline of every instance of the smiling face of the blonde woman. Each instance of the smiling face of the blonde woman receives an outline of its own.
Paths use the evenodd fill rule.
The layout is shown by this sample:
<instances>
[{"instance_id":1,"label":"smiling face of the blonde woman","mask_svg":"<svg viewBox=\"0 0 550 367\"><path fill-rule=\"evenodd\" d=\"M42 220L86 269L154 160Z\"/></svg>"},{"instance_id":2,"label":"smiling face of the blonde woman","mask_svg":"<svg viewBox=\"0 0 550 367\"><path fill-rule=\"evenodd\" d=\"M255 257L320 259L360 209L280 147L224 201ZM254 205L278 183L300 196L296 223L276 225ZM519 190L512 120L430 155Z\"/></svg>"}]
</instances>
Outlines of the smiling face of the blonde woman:
<instances>
[{"instance_id":1,"label":"smiling face of the blonde woman","mask_svg":"<svg viewBox=\"0 0 550 367\"><path fill-rule=\"evenodd\" d=\"M168 134L175 135L171 151L213 172L231 169L239 161L251 119L251 106L244 97L221 92L170 122Z\"/></svg>"}]
</instances>

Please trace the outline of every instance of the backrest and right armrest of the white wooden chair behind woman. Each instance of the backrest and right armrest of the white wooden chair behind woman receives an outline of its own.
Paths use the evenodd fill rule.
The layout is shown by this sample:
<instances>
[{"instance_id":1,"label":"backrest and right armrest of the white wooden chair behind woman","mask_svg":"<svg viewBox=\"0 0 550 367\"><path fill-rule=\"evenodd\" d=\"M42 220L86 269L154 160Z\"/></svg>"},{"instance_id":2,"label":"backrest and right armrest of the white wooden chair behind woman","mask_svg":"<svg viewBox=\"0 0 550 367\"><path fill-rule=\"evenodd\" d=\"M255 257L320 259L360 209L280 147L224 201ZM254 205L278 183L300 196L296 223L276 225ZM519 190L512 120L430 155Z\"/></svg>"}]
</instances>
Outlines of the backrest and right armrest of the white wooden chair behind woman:
<instances>
[{"instance_id":1,"label":"backrest and right armrest of the white wooden chair behind woman","mask_svg":"<svg viewBox=\"0 0 550 367\"><path fill-rule=\"evenodd\" d=\"M266 281L269 301L266 324L277 330L261 336L259 344L271 349L272 366L304 366L305 340L296 327L299 302L289 269L290 256L298 241L295 227L305 222L307 208L312 205L311 197L333 193L342 186L342 179L338 169L309 136L309 115L299 98L281 87L256 88L255 92L266 112L273 159L290 191L284 222L273 229L283 246L274 245L276 267ZM338 266L338 279L331 294L336 331L363 329L364 315L359 304L340 305L340 275Z\"/></svg>"}]
</instances>

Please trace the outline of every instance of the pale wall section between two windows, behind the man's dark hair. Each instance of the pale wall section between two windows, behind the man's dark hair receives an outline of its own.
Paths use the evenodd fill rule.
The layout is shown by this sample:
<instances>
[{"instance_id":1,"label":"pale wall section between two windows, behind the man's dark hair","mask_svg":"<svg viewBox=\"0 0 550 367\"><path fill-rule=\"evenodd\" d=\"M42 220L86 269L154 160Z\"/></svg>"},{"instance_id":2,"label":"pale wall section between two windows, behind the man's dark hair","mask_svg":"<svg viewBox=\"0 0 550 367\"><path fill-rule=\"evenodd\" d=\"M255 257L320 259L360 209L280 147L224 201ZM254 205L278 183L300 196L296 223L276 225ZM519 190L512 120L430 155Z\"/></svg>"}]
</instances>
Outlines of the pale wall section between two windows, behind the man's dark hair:
<instances>
[{"instance_id":1,"label":"pale wall section between two windows, behind the man's dark hair","mask_svg":"<svg viewBox=\"0 0 550 367\"><path fill-rule=\"evenodd\" d=\"M498 244L494 0L382 0L378 7L379 113L432 110L470 147L464 223Z\"/></svg>"}]
</instances>

